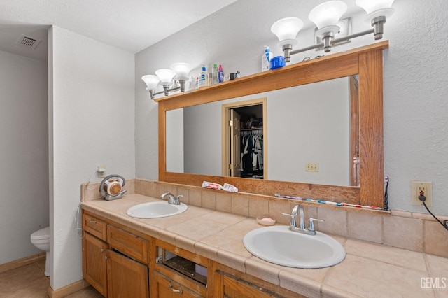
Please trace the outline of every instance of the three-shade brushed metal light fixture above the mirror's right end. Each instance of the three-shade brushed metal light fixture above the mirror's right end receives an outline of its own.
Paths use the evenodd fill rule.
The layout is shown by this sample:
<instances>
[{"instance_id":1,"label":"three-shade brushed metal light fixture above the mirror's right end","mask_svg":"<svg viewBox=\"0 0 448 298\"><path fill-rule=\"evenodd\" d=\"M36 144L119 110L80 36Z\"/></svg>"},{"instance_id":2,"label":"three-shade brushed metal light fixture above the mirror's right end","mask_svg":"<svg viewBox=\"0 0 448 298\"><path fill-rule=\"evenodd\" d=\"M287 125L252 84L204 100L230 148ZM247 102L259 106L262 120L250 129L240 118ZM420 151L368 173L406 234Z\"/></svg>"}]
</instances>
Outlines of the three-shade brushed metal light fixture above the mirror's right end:
<instances>
[{"instance_id":1,"label":"three-shade brushed metal light fixture above the mirror's right end","mask_svg":"<svg viewBox=\"0 0 448 298\"><path fill-rule=\"evenodd\" d=\"M303 22L297 17L286 17L272 24L271 31L279 38L279 45L283 49L286 62L290 62L290 56L307 50L323 48L325 52L330 52L332 45L344 43L352 38L374 34L375 40L383 38L384 23L386 17L390 17L394 10L391 8L394 0L356 0L356 5L367 12L367 21L371 22L372 29L356 34L335 38L340 30L337 22L346 12L347 6L344 1L327 1L319 4L309 13L309 20L317 26L316 35L322 38L322 42L310 45L306 48L293 50L293 45L297 44L295 36L302 29Z\"/></svg>"}]
</instances>

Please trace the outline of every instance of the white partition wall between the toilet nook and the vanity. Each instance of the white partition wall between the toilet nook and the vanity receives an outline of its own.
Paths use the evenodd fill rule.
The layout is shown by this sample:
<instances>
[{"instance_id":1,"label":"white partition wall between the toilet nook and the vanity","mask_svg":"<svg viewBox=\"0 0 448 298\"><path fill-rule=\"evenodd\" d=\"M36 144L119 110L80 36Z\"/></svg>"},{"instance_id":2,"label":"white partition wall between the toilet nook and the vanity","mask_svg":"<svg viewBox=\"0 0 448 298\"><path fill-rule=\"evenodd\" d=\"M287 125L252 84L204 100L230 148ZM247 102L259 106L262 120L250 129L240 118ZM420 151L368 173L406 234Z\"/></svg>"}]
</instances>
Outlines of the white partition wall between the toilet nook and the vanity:
<instances>
[{"instance_id":1,"label":"white partition wall between the toilet nook and the vanity","mask_svg":"<svg viewBox=\"0 0 448 298\"><path fill-rule=\"evenodd\" d=\"M135 78L130 52L59 27L50 29L49 40L50 285L56 290L82 279L80 183L100 164L108 174L134 177Z\"/></svg>"}]
</instances>

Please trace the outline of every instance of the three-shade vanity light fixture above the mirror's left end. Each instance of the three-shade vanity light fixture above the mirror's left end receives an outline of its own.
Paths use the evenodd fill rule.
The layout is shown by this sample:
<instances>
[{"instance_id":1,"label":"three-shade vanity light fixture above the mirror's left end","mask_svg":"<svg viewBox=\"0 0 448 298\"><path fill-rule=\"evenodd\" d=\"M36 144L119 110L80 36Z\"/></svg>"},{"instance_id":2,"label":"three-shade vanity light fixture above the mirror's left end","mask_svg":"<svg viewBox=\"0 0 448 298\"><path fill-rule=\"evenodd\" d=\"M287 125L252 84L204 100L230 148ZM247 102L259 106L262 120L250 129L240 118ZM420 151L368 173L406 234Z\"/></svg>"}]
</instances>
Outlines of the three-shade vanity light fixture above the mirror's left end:
<instances>
[{"instance_id":1,"label":"three-shade vanity light fixture above the mirror's left end","mask_svg":"<svg viewBox=\"0 0 448 298\"><path fill-rule=\"evenodd\" d=\"M141 79L146 83L146 90L151 94L151 99L155 99L155 95L165 94L169 95L169 92L181 90L185 91L185 84L188 80L188 73L190 73L193 67L188 63L174 63L171 65L171 69L158 69L154 75L142 76ZM179 82L179 86L177 85ZM163 86L163 91L155 92L158 85Z\"/></svg>"}]
</instances>

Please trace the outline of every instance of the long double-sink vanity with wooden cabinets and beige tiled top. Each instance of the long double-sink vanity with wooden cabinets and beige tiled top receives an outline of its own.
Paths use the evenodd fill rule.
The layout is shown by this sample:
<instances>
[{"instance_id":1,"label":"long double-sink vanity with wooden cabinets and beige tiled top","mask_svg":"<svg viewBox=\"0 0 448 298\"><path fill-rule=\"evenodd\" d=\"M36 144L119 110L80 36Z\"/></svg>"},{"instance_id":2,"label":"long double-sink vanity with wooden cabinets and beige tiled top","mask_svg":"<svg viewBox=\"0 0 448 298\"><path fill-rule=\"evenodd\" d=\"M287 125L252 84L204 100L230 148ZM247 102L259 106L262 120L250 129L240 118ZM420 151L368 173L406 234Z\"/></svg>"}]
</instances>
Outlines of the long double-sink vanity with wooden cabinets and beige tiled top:
<instances>
[{"instance_id":1,"label":"long double-sink vanity with wooden cabinets and beige tiled top","mask_svg":"<svg viewBox=\"0 0 448 298\"><path fill-rule=\"evenodd\" d=\"M126 215L132 206L160 201L158 194L167 190L185 194L186 212L153 219ZM248 253L243 239L248 232L262 226L251 216L225 211L225 204L241 211L239 201L249 194L221 195L216 190L136 179L135 193L130 191L123 199L83 201L85 280L105 297L117 297L117 293L151 298L389 297L391 293L397 297L421 298L444 294L442 289L422 290L421 278L446 276L446 257L337 234L330 235L342 243L346 257L335 266L300 269L260 260ZM216 208L197 205L198 197L207 205L214 196ZM268 200L266 208L269 206L273 212L269 214L278 218L280 225L288 225L289 219L285 217L283 222L281 213L289 212L297 202L260 197L252 199L249 206L256 209L257 204L266 204L263 200ZM303 205L307 217L314 214L313 204L304 202ZM386 212L372 215L372 211L358 208L321 208L327 211L329 208L330 212L318 211L319 216L325 214L327 226L340 227L335 219L342 211L353 213L347 214L353 219L363 215L370 223L377 221L375 218L386 222L394 217ZM331 213L336 217L331 217ZM395 217L399 222L405 219L400 215ZM437 224L426 221L426 225ZM353 222L353 225L362 224ZM323 230L324 225L316 229Z\"/></svg>"}]
</instances>

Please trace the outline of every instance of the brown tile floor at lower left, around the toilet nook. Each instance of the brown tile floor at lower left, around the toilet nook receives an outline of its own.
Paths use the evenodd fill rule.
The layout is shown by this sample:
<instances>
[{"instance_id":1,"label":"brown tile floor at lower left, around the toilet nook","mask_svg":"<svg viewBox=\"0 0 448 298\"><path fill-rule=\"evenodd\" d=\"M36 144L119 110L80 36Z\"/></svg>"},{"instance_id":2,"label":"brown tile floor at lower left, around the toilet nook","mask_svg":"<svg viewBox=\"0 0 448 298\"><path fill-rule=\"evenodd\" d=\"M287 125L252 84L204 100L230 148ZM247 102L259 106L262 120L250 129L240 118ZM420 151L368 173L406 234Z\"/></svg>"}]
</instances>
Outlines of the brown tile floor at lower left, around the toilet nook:
<instances>
[{"instance_id":1,"label":"brown tile floor at lower left, around the toilet nook","mask_svg":"<svg viewBox=\"0 0 448 298\"><path fill-rule=\"evenodd\" d=\"M48 298L50 278L43 275L45 260L0 273L0 297ZM92 286L73 293L69 298L102 298Z\"/></svg>"}]
</instances>

